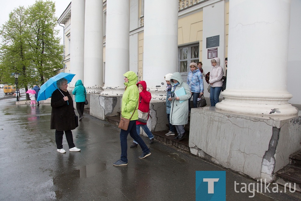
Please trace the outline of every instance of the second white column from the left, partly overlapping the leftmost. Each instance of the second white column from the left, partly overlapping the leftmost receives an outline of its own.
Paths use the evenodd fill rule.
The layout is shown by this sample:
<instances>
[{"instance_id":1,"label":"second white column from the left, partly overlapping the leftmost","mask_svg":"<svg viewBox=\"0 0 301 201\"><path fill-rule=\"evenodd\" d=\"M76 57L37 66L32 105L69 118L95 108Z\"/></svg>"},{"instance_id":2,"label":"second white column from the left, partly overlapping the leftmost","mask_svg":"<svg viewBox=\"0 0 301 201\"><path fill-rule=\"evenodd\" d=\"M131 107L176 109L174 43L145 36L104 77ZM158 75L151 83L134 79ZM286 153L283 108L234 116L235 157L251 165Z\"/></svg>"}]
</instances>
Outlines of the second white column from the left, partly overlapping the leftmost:
<instances>
[{"instance_id":1,"label":"second white column from the left, partly overlapping the leftmost","mask_svg":"<svg viewBox=\"0 0 301 201\"><path fill-rule=\"evenodd\" d=\"M103 3L85 2L84 85L98 92L103 86Z\"/></svg>"}]
</instances>

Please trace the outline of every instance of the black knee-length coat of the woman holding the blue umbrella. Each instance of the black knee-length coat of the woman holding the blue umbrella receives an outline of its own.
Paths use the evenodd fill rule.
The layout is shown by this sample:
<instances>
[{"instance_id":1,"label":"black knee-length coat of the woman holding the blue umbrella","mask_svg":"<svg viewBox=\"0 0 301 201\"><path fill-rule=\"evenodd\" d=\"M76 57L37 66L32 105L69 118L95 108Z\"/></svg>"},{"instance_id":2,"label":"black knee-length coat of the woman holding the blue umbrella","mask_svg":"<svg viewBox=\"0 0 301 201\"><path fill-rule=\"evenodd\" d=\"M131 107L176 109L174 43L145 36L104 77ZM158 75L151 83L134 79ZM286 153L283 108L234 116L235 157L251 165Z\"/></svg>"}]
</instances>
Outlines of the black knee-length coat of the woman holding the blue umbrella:
<instances>
[{"instance_id":1,"label":"black knee-length coat of the woman holding the blue umbrella","mask_svg":"<svg viewBox=\"0 0 301 201\"><path fill-rule=\"evenodd\" d=\"M64 96L68 96L69 100L64 101ZM68 91L55 90L51 95L51 107L50 129L58 131L75 129L73 100Z\"/></svg>"}]
</instances>

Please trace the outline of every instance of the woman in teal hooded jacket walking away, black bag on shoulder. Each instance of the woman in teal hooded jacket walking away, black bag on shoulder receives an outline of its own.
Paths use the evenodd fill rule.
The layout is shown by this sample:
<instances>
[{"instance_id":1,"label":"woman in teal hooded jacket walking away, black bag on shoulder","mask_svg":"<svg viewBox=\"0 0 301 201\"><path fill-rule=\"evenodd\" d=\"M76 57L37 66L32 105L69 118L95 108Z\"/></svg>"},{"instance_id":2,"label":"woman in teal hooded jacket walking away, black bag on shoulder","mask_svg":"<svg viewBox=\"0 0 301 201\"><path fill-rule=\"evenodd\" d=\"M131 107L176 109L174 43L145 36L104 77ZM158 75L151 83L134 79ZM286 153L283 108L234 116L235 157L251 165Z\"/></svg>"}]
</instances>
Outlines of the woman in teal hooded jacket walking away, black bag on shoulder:
<instances>
[{"instance_id":1,"label":"woman in teal hooded jacket walking away, black bag on shoulder","mask_svg":"<svg viewBox=\"0 0 301 201\"><path fill-rule=\"evenodd\" d=\"M79 115L79 121L82 120L84 114L85 100L87 96L86 88L82 84L82 80L77 80L75 83L75 88L72 91L75 95L76 110Z\"/></svg>"}]
</instances>

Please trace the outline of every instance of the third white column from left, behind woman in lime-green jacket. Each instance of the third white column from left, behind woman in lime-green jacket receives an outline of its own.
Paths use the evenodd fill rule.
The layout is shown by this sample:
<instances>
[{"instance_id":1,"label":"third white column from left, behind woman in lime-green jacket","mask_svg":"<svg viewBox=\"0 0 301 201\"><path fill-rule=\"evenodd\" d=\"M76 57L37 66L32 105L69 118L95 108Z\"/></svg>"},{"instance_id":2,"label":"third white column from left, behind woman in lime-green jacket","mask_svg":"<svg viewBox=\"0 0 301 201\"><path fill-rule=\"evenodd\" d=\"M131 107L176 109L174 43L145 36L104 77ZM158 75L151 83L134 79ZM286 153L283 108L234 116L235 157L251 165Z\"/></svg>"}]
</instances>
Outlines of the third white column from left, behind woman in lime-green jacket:
<instances>
[{"instance_id":1,"label":"third white column from left, behind woman in lime-green jacket","mask_svg":"<svg viewBox=\"0 0 301 201\"><path fill-rule=\"evenodd\" d=\"M107 1L106 70L102 95L123 94L123 74L129 71L129 16L129 0Z\"/></svg>"}]
</instances>

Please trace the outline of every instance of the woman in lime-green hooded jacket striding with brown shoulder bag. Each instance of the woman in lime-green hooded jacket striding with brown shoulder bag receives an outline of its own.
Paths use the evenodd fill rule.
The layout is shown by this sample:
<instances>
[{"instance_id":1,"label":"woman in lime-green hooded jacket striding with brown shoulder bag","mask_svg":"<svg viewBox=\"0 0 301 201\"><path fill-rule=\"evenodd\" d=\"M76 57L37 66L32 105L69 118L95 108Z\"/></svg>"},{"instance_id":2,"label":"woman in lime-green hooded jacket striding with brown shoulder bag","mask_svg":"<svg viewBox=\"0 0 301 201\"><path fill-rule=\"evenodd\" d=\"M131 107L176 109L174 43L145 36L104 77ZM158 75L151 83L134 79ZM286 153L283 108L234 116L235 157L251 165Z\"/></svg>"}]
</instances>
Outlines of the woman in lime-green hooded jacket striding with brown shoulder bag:
<instances>
[{"instance_id":1,"label":"woman in lime-green hooded jacket striding with brown shoulder bag","mask_svg":"<svg viewBox=\"0 0 301 201\"><path fill-rule=\"evenodd\" d=\"M138 77L133 71L128 71L123 74L125 77L126 89L122 96L121 101L121 116L126 119L130 119L129 127L127 130L120 130L120 145L121 145L121 156L120 160L113 163L115 166L127 165L127 137L128 134L140 145L142 148L142 154L138 158L145 158L151 155L151 151L143 141L143 139L138 135L136 128L136 120L138 120L138 99L139 99L139 91L136 86Z\"/></svg>"}]
</instances>

